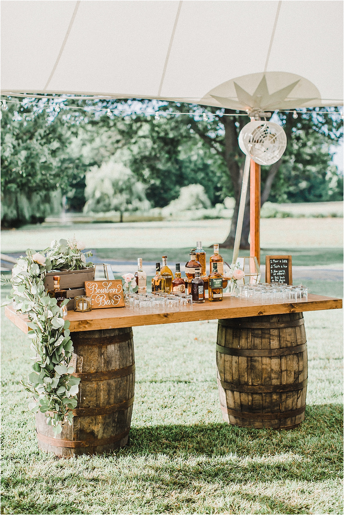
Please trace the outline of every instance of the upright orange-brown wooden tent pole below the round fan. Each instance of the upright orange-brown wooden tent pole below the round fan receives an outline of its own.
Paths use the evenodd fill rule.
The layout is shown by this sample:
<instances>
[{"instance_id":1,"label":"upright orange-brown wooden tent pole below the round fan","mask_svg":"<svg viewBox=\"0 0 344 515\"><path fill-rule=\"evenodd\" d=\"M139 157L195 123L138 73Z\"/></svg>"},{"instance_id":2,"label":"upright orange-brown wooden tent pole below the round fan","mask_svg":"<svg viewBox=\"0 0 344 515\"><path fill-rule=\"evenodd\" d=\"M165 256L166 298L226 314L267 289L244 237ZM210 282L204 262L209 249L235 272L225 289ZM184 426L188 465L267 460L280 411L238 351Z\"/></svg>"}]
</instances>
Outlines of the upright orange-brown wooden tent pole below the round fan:
<instances>
[{"instance_id":1,"label":"upright orange-brown wooden tent pole below the round fan","mask_svg":"<svg viewBox=\"0 0 344 515\"><path fill-rule=\"evenodd\" d=\"M260 165L251 159L250 166L250 256L260 265Z\"/></svg>"}]
</instances>

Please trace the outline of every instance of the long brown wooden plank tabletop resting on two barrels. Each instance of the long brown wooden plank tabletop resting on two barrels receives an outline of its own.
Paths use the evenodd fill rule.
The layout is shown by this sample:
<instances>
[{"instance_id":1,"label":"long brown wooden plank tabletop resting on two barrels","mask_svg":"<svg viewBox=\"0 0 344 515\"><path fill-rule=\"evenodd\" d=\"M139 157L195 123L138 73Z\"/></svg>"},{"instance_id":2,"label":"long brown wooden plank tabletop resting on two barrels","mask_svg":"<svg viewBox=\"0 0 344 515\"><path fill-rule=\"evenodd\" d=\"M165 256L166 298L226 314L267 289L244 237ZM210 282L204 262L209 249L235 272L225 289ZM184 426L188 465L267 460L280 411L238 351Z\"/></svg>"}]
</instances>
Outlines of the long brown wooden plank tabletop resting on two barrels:
<instances>
[{"instance_id":1,"label":"long brown wooden plank tabletop resting on two barrels","mask_svg":"<svg viewBox=\"0 0 344 515\"><path fill-rule=\"evenodd\" d=\"M248 300L224 295L222 302L193 304L192 311L143 315L125 307L92 310L88 313L69 311L70 331L92 331L135 327L137 325L156 325L162 323L194 322L196 320L217 320L219 318L254 317L277 315L280 313L300 313L302 311L337 310L342 300L320 295L308 295L307 301L283 304L257 304ZM24 333L28 331L26 315L17 315L12 307L5 307L5 315Z\"/></svg>"}]
</instances>

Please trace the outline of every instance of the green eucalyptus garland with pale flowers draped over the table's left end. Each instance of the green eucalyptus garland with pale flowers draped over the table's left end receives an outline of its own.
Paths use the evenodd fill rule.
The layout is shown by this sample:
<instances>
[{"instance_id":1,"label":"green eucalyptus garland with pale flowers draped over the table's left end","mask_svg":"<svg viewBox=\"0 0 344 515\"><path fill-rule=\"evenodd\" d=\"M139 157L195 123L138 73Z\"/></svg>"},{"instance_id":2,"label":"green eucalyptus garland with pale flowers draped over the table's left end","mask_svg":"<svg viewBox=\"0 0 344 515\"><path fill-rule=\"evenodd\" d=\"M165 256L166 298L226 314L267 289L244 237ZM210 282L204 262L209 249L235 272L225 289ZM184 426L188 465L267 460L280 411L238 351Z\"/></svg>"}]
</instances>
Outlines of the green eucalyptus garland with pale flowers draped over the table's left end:
<instances>
[{"instance_id":1,"label":"green eucalyptus garland with pale flowers draped over the table's left end","mask_svg":"<svg viewBox=\"0 0 344 515\"><path fill-rule=\"evenodd\" d=\"M43 279L51 270L79 270L92 266L92 263L86 263L92 253L81 252L84 248L85 245L74 238L71 241L60 239L59 243L54 240L41 252L28 249L26 256L17 260L12 278L3 280L12 284L6 304L13 303L15 311L27 314L30 321L28 336L36 356L32 357L34 364L28 381L21 381L34 395L28 407L32 413L46 414L46 423L52 426L55 436L61 433L63 424L72 423L80 379L71 375L75 370L70 363L73 354L70 322L62 316L62 305L69 299L57 306L56 299L47 295Z\"/></svg>"}]
</instances>

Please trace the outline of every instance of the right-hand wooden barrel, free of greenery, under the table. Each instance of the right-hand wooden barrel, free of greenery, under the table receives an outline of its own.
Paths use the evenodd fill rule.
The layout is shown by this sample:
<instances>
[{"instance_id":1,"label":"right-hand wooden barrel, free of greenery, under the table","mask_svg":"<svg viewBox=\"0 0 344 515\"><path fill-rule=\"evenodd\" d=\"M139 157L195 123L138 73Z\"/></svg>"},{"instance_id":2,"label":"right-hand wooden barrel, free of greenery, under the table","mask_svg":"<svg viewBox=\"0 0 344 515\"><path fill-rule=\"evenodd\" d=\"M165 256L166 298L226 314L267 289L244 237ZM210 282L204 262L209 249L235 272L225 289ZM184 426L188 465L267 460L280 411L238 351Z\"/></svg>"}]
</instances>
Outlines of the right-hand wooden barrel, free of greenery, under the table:
<instances>
[{"instance_id":1,"label":"right-hand wooden barrel, free of greenery, under the table","mask_svg":"<svg viewBox=\"0 0 344 515\"><path fill-rule=\"evenodd\" d=\"M308 374L302 313L219 320L216 351L224 421L291 429L304 420Z\"/></svg>"}]
</instances>

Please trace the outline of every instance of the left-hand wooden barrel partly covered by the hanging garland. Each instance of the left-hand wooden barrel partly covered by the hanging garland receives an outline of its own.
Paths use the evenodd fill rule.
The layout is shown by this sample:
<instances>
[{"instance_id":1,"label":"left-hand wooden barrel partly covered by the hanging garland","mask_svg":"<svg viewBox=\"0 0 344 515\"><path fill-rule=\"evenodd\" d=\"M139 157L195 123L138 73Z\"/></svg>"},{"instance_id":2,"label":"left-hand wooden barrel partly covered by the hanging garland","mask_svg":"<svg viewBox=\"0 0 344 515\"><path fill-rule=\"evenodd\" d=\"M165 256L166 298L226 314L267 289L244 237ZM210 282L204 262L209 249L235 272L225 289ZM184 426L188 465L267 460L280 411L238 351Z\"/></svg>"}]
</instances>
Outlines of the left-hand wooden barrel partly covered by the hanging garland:
<instances>
[{"instance_id":1,"label":"left-hand wooden barrel partly covered by the hanging garland","mask_svg":"<svg viewBox=\"0 0 344 515\"><path fill-rule=\"evenodd\" d=\"M80 377L73 423L66 423L54 438L45 415L38 413L38 445L57 456L105 453L124 447L135 388L132 328L74 332L71 338L74 375Z\"/></svg>"}]
</instances>

